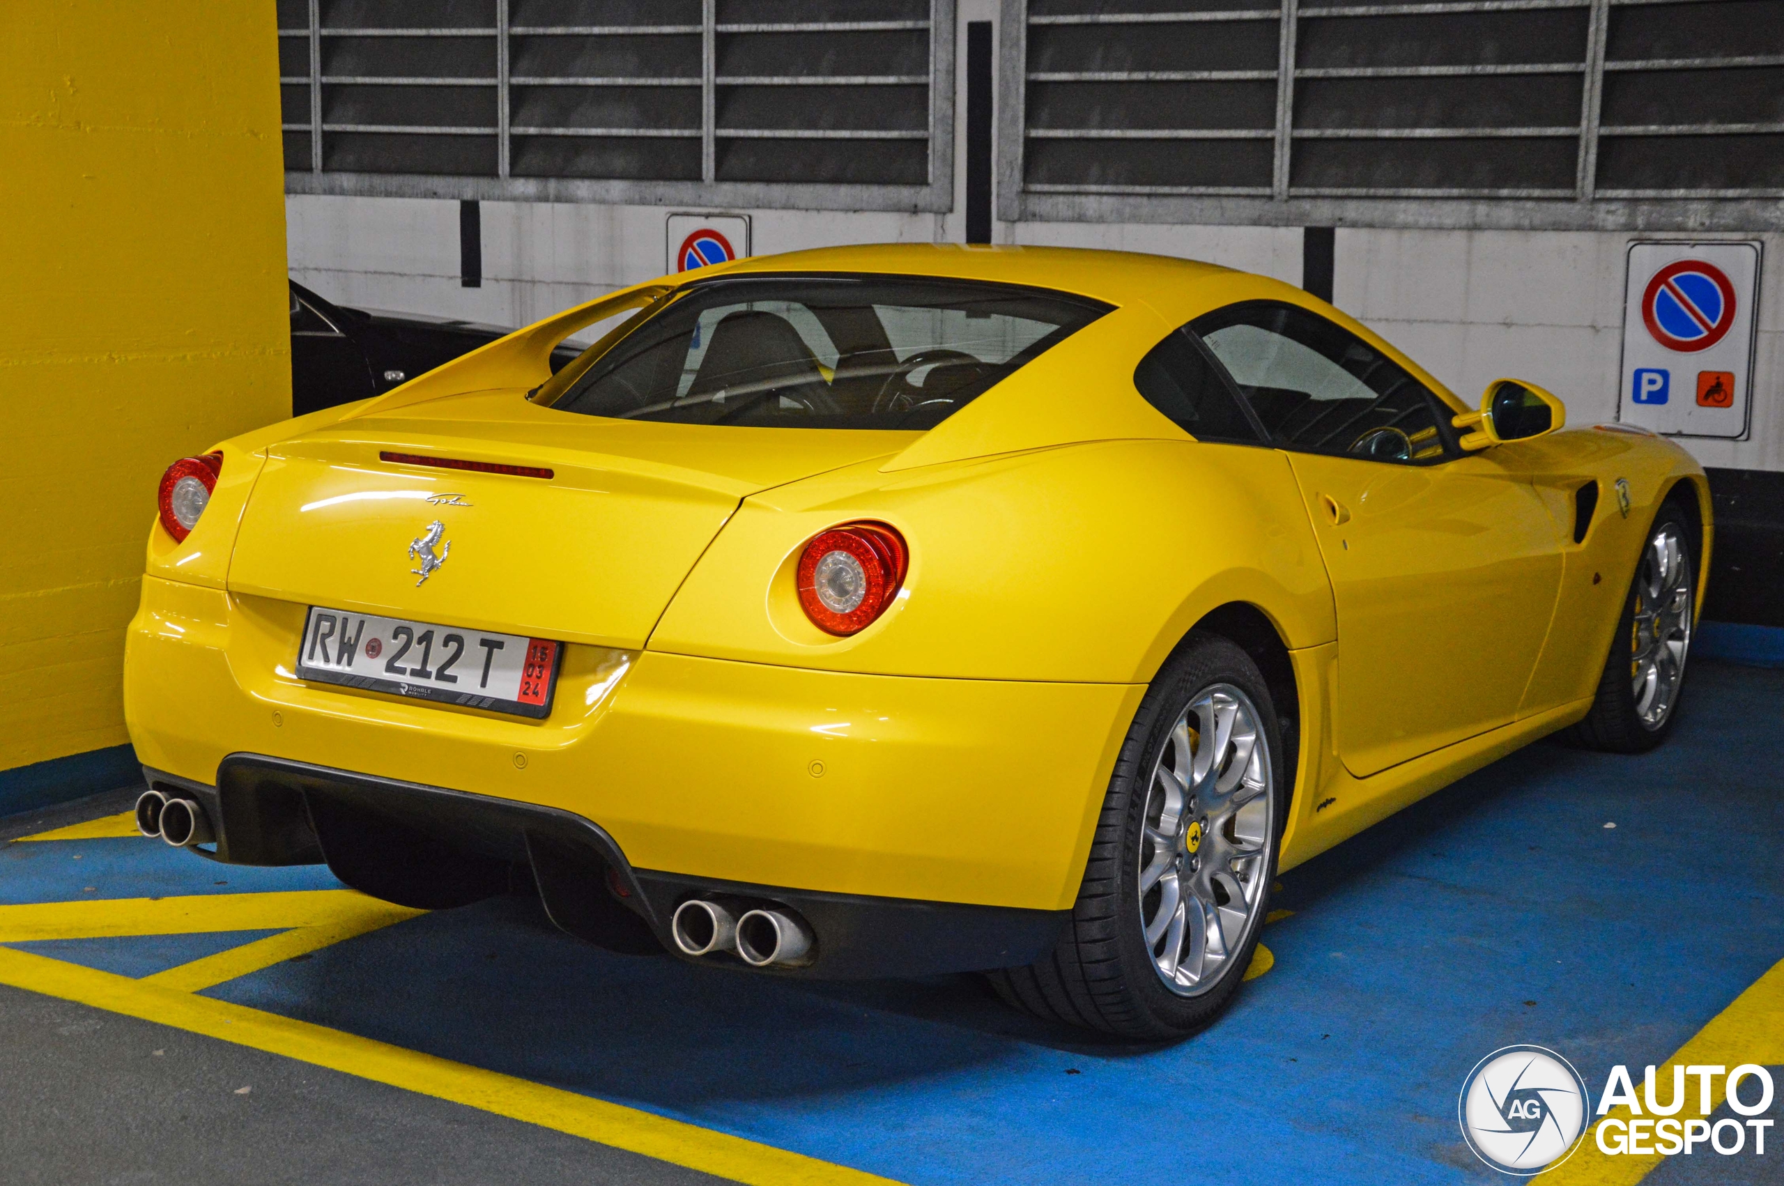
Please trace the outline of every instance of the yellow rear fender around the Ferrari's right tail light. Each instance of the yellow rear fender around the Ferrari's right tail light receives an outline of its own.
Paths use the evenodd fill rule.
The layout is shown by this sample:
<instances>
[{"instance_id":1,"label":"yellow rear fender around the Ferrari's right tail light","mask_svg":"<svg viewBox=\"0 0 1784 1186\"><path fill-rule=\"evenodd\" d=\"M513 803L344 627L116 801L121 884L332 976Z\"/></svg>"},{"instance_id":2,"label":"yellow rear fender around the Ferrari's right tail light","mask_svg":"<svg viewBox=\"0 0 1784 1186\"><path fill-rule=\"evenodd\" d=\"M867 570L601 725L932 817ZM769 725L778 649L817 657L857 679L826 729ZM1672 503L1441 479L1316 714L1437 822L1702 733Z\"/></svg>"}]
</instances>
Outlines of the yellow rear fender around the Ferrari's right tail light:
<instances>
[{"instance_id":1,"label":"yellow rear fender around the Ferrari's right tail light","mask_svg":"<svg viewBox=\"0 0 1784 1186\"><path fill-rule=\"evenodd\" d=\"M856 519L910 544L894 605L847 638L797 603L806 540ZM1229 601L1290 647L1334 637L1331 587L1281 453L1103 441L885 474L846 467L744 499L648 649L892 676L1145 683Z\"/></svg>"}]
</instances>

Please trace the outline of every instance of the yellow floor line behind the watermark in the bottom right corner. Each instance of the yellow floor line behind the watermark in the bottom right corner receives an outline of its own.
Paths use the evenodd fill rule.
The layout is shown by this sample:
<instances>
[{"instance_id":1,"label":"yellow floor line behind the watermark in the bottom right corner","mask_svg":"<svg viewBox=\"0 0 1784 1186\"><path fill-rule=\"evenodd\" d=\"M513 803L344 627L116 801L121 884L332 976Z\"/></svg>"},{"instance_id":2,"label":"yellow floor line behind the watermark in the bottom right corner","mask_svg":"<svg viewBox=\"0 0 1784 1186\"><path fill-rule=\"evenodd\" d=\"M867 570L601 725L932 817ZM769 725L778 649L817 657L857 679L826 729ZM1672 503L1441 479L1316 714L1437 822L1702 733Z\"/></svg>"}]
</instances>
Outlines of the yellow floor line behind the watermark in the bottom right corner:
<instances>
[{"instance_id":1,"label":"yellow floor line behind the watermark in the bottom right corner","mask_svg":"<svg viewBox=\"0 0 1784 1186\"><path fill-rule=\"evenodd\" d=\"M1761 1067L1784 1063L1784 960L1772 965L1772 970L1754 981L1727 1009L1709 1018L1709 1024L1679 1047L1664 1065L1657 1065L1654 1074L1656 1083L1668 1084L1659 1088L1664 1097L1672 1091L1672 1068L1675 1065L1732 1068L1741 1063L1759 1063ZM1629 1068L1636 1084L1643 1081L1643 1067ZM1711 1083L1714 1084L1711 1088L1711 1111L1714 1111L1722 1108L1725 1079L1711 1079ZM1698 1084L1695 1079L1686 1079L1686 1084L1695 1108ZM1595 1084L1595 1090L1598 1088L1602 1084ZM1629 1120L1629 1115L1627 1108L1616 1106L1602 1118ZM1666 1161L1663 1154L1598 1152L1593 1140L1598 1120L1597 1115L1586 1118L1586 1136L1579 1150L1557 1168L1543 1174L1545 1186L1632 1186L1656 1170L1661 1161Z\"/></svg>"}]
</instances>

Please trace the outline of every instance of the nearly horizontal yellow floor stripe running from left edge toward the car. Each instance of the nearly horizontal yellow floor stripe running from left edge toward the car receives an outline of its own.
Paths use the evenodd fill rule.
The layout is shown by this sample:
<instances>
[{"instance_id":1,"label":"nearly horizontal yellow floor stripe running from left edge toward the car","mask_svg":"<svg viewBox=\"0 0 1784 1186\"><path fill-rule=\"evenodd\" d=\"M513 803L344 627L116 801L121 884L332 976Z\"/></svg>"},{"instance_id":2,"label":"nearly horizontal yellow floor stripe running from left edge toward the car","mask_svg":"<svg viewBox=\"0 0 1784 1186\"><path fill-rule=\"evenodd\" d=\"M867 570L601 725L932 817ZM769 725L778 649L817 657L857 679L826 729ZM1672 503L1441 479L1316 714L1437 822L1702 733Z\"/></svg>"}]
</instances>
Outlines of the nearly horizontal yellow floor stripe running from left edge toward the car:
<instances>
[{"instance_id":1,"label":"nearly horizontal yellow floor stripe running from left edge toward the car","mask_svg":"<svg viewBox=\"0 0 1784 1186\"><path fill-rule=\"evenodd\" d=\"M198 935L271 931L357 917L384 906L359 890L277 894L196 894L191 897L112 897L91 902L0 906L0 943L118 935ZM400 910L400 908L398 908Z\"/></svg>"}]
</instances>

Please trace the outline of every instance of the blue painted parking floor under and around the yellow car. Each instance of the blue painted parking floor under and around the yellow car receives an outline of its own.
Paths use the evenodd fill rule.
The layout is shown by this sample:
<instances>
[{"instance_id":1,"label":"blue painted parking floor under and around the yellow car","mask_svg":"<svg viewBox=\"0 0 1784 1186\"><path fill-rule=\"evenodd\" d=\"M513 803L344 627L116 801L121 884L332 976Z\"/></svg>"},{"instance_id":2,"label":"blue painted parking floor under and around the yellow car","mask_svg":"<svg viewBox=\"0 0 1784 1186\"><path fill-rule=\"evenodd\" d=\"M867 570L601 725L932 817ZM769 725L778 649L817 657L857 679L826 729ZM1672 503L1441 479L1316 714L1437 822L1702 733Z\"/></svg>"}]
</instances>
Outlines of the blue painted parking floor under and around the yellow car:
<instances>
[{"instance_id":1,"label":"blue painted parking floor under and around the yellow car","mask_svg":"<svg viewBox=\"0 0 1784 1186\"><path fill-rule=\"evenodd\" d=\"M1538 744L1284 874L1274 970L1177 1045L1045 1027L974 977L803 984L612 956L526 899L207 993L906 1182L1499 1182L1456 1129L1486 1052L1552 1047L1597 1093L1784 960L1784 671L1700 663L1684 713L1654 754ZM5 902L332 885L146 840L0 851ZM145 970L127 974L209 951L178 942L32 949Z\"/></svg>"}]
</instances>

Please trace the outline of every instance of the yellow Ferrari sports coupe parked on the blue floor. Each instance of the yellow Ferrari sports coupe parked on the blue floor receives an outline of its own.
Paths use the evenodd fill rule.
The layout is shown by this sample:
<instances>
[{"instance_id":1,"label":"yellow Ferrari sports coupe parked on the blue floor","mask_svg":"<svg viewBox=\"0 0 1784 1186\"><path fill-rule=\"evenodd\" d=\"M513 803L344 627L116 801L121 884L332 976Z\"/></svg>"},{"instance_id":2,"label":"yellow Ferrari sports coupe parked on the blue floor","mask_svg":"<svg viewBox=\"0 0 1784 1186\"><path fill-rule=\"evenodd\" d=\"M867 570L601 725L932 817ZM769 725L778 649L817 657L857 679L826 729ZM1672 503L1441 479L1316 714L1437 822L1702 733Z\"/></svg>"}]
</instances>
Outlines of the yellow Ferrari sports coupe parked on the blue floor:
<instances>
[{"instance_id":1,"label":"yellow Ferrari sports coupe parked on the blue floor","mask_svg":"<svg viewBox=\"0 0 1784 1186\"><path fill-rule=\"evenodd\" d=\"M1672 442L1515 380L1468 408L1276 280L747 259L175 462L137 819L1183 1034L1277 869L1556 729L1661 742L1709 539Z\"/></svg>"}]
</instances>

